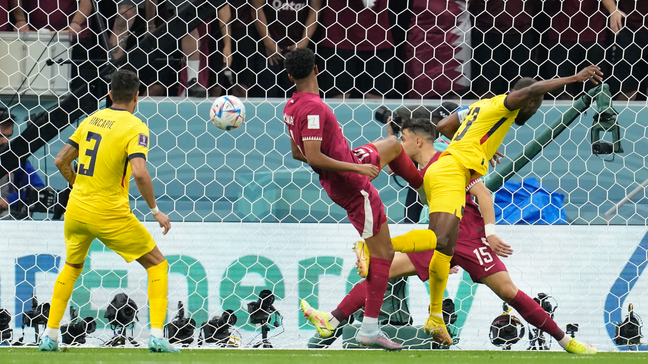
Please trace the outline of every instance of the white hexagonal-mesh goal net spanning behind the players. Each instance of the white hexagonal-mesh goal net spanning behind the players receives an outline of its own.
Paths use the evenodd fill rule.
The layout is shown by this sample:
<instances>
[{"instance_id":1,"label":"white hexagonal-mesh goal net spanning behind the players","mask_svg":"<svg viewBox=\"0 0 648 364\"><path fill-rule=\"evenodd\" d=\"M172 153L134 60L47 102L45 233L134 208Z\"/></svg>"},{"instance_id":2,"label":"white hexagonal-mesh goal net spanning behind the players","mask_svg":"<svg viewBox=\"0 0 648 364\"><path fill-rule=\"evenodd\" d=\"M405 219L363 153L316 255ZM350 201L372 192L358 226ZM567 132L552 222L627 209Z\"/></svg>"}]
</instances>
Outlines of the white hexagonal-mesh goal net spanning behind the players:
<instances>
[{"instance_id":1,"label":"white hexagonal-mesh goal net spanning behind the players","mask_svg":"<svg viewBox=\"0 0 648 364\"><path fill-rule=\"evenodd\" d=\"M0 16L0 308L10 316L6 327L0 319L3 341L36 341L35 328L24 325L32 297L49 302L65 262L69 189L54 158L86 115L110 106L110 74L125 68L142 82L135 115L150 130L148 170L157 205L172 223L163 236L131 185L133 213L169 262L166 322L180 322L174 320L181 302L195 323L189 346L218 347L201 328L211 330L217 320L210 319L232 310L237 321L220 334L230 346L253 346L266 330L250 319L248 303L270 290L276 313L262 317L268 341L317 346L299 300L325 312L336 308L361 280L351 251L358 236L318 176L292 159L282 114L295 91L283 65L294 47L315 52L321 96L353 148L394 131L398 136L382 119L385 109L395 120L440 119L507 93L523 76L570 76L599 65L606 86L588 94L596 85L572 84L547 95L525 126L509 131L499 150L506 157L485 181L495 192L498 234L515 250L503 260L511 279L531 297L549 295L562 329L577 324L578 339L627 350L614 341L616 325L631 303L636 315L648 313L642 304L648 298L642 276L648 9L642 2L615 1L618 12L599 1L23 3L29 4ZM222 95L244 102L246 119L236 130L209 122L211 104ZM601 131L593 132L593 124ZM593 144L603 152L593 154ZM408 199L402 179L381 173L373 185L392 236L426 229L426 209ZM141 266L95 240L69 302L81 319L97 323L86 345L121 334L145 343L146 287ZM124 332L104 317L119 293L137 304L139 319ZM420 330L427 282L416 275L390 281L387 296L380 320L388 335L411 348L432 348ZM497 348L489 333L502 300L463 269L450 275L446 296L456 313L449 325L454 347ZM355 320L357 326L361 312ZM66 313L62 324L71 321ZM320 345L354 347L353 324ZM530 345L533 327L524 320L522 326L526 334L513 349ZM630 348L646 347L632 341Z\"/></svg>"}]
</instances>

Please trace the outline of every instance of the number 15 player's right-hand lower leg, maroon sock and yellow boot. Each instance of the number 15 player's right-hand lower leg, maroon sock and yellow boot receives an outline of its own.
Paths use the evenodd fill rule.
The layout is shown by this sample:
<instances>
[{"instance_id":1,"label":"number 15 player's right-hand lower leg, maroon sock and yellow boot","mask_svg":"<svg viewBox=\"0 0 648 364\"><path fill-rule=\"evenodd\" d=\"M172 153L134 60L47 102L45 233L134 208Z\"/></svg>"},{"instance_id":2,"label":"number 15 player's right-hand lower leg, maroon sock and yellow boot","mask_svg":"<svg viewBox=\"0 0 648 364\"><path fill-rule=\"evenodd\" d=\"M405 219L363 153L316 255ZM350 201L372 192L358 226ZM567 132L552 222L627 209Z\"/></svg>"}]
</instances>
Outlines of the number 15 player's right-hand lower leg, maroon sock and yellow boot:
<instances>
[{"instance_id":1,"label":"number 15 player's right-hand lower leg, maroon sock and yellow boot","mask_svg":"<svg viewBox=\"0 0 648 364\"><path fill-rule=\"evenodd\" d=\"M504 302L515 308L527 323L550 334L567 352L572 354L596 354L597 350L593 345L581 343L573 337L567 336L538 302L535 302L522 290L518 290L507 271L499 271L483 277L481 282L491 288Z\"/></svg>"}]
</instances>

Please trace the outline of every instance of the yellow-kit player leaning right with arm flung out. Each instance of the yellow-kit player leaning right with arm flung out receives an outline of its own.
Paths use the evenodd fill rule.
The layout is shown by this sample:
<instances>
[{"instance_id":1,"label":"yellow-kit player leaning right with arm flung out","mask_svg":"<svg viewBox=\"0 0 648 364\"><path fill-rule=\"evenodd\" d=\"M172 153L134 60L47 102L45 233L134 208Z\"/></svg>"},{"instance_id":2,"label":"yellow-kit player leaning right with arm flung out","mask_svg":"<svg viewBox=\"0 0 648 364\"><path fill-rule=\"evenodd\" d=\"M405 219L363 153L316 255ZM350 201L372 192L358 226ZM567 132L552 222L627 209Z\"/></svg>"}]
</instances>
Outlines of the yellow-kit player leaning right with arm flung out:
<instances>
[{"instance_id":1,"label":"yellow-kit player leaning right with arm flung out","mask_svg":"<svg viewBox=\"0 0 648 364\"><path fill-rule=\"evenodd\" d=\"M516 82L508 95L470 105L464 120L459 120L458 113L452 113L439 122L439 131L452 141L439 161L428 168L423 183L430 206L429 229L434 231L437 243L429 267L430 317L424 330L435 341L452 344L443 323L441 302L470 179L486 174L489 161L513 122L518 126L524 125L540 108L544 94L572 82L591 80L598 84L601 76L601 69L591 65L570 77L545 81L525 77ZM494 224L485 225L484 230L486 236L494 234Z\"/></svg>"}]
</instances>

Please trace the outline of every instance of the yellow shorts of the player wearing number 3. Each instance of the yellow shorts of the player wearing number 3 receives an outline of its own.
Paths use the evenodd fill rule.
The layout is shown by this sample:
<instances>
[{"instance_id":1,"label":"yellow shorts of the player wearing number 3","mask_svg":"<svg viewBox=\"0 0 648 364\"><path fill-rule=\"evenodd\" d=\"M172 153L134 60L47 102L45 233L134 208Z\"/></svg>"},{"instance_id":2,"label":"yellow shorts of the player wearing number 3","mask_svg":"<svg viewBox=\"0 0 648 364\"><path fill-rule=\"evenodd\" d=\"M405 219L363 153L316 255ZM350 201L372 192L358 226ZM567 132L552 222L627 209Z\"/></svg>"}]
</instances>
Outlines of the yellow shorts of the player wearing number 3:
<instances>
[{"instance_id":1,"label":"yellow shorts of the player wearing number 3","mask_svg":"<svg viewBox=\"0 0 648 364\"><path fill-rule=\"evenodd\" d=\"M124 217L119 225L106 226L90 225L65 216L64 225L65 261L71 264L86 260L90 243L95 238L129 263L156 247L151 234L133 214Z\"/></svg>"}]
</instances>

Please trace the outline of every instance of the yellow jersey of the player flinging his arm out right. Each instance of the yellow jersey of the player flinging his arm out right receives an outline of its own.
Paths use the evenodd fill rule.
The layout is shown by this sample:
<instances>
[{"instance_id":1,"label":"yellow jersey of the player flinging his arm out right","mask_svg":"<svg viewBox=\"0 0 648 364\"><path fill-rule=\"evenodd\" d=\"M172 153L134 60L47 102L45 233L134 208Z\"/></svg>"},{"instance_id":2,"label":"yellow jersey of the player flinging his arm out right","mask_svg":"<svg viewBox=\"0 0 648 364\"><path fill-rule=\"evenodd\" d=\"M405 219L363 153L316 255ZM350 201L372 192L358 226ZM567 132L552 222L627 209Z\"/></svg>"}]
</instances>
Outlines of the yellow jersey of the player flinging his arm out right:
<instances>
[{"instance_id":1,"label":"yellow jersey of the player flinging his arm out right","mask_svg":"<svg viewBox=\"0 0 648 364\"><path fill-rule=\"evenodd\" d=\"M518 116L519 109L509 110L505 98L506 95L498 95L470 105L468 115L443 152L454 155L459 163L472 170L472 178L486 175L489 160Z\"/></svg>"}]
</instances>

